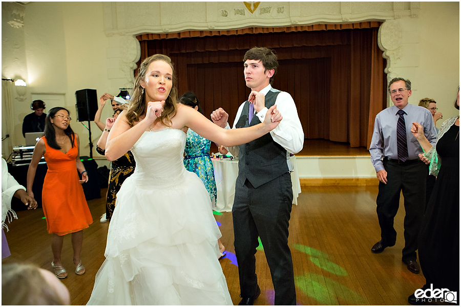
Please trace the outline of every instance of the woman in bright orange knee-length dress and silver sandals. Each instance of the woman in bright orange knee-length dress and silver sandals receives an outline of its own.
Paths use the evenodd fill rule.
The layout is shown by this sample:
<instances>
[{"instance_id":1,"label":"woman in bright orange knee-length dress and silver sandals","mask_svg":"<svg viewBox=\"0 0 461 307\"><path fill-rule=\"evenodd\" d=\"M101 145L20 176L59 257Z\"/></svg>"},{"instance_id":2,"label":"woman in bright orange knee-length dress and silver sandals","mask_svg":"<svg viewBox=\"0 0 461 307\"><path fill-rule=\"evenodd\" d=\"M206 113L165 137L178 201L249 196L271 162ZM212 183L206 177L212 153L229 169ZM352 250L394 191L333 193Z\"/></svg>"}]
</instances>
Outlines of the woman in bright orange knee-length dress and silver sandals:
<instances>
[{"instance_id":1,"label":"woman in bright orange knee-length dress and silver sandals","mask_svg":"<svg viewBox=\"0 0 461 307\"><path fill-rule=\"evenodd\" d=\"M69 111L64 107L54 107L45 120L45 136L35 145L32 161L27 172L27 193L33 197L32 184L41 157L45 157L48 171L43 183L42 206L47 221L47 230L53 234L51 266L58 278L66 278L67 271L62 266L61 250L64 235L72 233L72 260L75 274L85 273L81 265L80 251L83 229L93 223L82 183L88 181L88 172L80 161L79 138L70 127ZM78 173L81 175L81 180Z\"/></svg>"}]
</instances>

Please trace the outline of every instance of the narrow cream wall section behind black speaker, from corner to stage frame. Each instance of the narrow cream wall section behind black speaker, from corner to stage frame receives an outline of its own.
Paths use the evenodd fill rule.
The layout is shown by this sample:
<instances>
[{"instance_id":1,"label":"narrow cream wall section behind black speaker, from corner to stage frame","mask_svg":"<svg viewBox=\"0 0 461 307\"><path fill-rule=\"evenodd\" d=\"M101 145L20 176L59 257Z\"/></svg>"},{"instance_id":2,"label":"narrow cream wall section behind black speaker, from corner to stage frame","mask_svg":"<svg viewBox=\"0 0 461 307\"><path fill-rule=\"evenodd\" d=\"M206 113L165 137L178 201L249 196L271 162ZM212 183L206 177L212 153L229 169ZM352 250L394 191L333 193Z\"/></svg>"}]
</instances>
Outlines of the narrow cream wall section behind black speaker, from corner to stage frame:
<instances>
[{"instance_id":1,"label":"narrow cream wall section behind black speaker, from corner to stage frame","mask_svg":"<svg viewBox=\"0 0 461 307\"><path fill-rule=\"evenodd\" d=\"M108 38L102 30L102 3L100 2L66 2L64 5L64 31L66 33L67 55L67 92L69 104L75 114L75 91L81 89L97 90L98 98L105 92L117 95L118 88L110 89L106 66ZM99 100L98 100L99 101ZM99 102L98 102L99 103ZM101 121L112 116L110 101L104 107ZM76 116L75 116L76 117ZM88 122L85 122L88 125ZM88 156L90 152L88 130L81 123L74 121L80 134L80 155ZM93 155L101 130L91 122Z\"/></svg>"}]
</instances>

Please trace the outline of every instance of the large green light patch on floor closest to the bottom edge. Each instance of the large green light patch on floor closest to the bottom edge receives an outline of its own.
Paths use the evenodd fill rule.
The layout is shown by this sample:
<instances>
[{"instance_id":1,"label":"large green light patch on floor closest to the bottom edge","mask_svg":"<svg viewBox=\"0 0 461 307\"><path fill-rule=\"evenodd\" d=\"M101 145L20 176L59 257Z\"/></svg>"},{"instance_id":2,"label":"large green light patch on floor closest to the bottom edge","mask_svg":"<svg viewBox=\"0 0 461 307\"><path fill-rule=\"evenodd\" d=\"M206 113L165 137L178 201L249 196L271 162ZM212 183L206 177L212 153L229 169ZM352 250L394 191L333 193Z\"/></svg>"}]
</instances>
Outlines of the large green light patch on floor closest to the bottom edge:
<instances>
[{"instance_id":1,"label":"large green light patch on floor closest to the bottom edge","mask_svg":"<svg viewBox=\"0 0 461 307\"><path fill-rule=\"evenodd\" d=\"M359 294L328 277L305 273L303 276L295 276L295 284L305 295L324 305L365 304Z\"/></svg>"}]
</instances>

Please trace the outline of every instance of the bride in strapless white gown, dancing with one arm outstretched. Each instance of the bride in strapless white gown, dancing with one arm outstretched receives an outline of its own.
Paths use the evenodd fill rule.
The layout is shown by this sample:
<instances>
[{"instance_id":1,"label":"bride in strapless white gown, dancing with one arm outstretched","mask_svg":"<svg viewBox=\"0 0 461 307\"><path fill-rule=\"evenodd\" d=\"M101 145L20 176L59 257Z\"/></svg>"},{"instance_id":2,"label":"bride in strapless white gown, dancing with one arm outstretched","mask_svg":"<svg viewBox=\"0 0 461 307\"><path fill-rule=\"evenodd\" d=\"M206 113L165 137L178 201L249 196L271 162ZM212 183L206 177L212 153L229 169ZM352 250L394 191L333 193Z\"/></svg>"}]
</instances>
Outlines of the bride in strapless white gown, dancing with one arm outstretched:
<instances>
[{"instance_id":1,"label":"bride in strapless white gown, dancing with one arm outstretched","mask_svg":"<svg viewBox=\"0 0 461 307\"><path fill-rule=\"evenodd\" d=\"M217 258L221 236L208 192L182 162L188 127L226 146L268 133L282 119L275 106L263 123L222 129L177 103L171 59L140 65L127 111L112 127L106 157L131 149L136 170L117 193L106 247L88 305L232 305Z\"/></svg>"}]
</instances>

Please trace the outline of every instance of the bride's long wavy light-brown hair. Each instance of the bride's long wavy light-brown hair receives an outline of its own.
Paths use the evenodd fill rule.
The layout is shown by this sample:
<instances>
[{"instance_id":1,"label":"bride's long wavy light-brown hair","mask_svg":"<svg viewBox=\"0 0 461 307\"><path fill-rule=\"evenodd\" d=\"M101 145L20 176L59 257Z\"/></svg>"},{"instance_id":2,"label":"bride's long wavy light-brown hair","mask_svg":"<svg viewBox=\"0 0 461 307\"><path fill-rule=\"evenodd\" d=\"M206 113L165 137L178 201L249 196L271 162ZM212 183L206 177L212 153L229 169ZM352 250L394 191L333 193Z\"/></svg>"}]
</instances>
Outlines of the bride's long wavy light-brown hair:
<instances>
[{"instance_id":1,"label":"bride's long wavy light-brown hair","mask_svg":"<svg viewBox=\"0 0 461 307\"><path fill-rule=\"evenodd\" d=\"M158 118L162 125L171 126L171 119L176 115L178 104L178 89L175 68L171 58L163 54L154 54L144 59L139 66L138 75L133 84L133 92L131 94L131 102L127 108L126 116L128 123L133 127L135 122L139 121L139 117L147 112L147 102L145 101L145 92L142 91L141 80L145 79L145 74L148 71L149 65L154 61L164 61L169 64L172 69L172 86L168 97L163 105L162 115Z\"/></svg>"}]
</instances>

